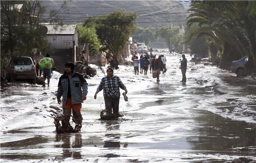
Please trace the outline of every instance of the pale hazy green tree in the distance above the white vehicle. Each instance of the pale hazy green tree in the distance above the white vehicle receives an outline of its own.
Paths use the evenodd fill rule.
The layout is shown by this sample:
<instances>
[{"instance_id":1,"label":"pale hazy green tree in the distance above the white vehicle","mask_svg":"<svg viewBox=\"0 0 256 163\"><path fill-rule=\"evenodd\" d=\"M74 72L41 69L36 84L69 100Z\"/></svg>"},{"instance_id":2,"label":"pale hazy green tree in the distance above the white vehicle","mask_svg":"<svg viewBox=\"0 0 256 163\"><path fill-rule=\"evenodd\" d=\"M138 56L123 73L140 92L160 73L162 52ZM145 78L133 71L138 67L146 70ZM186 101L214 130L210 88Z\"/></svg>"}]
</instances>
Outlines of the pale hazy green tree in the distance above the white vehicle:
<instances>
[{"instance_id":1,"label":"pale hazy green tree in the distance above the white vehicle","mask_svg":"<svg viewBox=\"0 0 256 163\"><path fill-rule=\"evenodd\" d=\"M156 35L154 27L137 27L136 32L132 35L133 40L136 40L139 43L145 43L148 45L154 41L158 40L158 36Z\"/></svg>"}]
</instances>

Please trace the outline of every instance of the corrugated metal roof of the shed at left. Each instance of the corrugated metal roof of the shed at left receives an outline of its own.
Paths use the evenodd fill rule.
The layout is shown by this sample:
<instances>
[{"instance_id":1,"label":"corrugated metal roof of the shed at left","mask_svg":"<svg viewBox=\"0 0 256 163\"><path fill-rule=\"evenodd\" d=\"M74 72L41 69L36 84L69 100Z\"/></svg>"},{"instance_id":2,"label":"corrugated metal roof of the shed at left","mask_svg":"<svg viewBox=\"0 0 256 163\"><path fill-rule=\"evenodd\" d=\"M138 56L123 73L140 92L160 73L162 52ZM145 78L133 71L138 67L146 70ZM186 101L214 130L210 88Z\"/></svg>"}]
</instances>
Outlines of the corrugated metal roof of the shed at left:
<instances>
[{"instance_id":1,"label":"corrugated metal roof of the shed at left","mask_svg":"<svg viewBox=\"0 0 256 163\"><path fill-rule=\"evenodd\" d=\"M47 35L74 35L76 25L69 24L69 25L53 25L47 24L44 25L47 30Z\"/></svg>"}]
</instances>

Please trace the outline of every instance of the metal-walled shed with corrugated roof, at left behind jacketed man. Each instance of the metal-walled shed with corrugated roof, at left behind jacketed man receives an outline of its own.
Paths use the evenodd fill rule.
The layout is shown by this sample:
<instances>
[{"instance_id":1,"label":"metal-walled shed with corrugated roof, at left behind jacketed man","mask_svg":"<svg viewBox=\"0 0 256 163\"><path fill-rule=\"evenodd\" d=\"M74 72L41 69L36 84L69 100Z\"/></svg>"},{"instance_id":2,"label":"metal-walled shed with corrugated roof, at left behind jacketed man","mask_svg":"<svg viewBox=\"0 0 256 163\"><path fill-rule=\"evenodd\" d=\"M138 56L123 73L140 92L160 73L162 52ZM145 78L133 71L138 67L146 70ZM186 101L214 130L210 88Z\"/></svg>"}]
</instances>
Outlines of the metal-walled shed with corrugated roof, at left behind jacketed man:
<instances>
[{"instance_id":1,"label":"metal-walled shed with corrugated roof, at left behind jacketed man","mask_svg":"<svg viewBox=\"0 0 256 163\"><path fill-rule=\"evenodd\" d=\"M43 25L47 28L46 40L50 44L48 53L55 67L64 69L66 62L76 62L78 49L78 31L76 25Z\"/></svg>"}]
</instances>

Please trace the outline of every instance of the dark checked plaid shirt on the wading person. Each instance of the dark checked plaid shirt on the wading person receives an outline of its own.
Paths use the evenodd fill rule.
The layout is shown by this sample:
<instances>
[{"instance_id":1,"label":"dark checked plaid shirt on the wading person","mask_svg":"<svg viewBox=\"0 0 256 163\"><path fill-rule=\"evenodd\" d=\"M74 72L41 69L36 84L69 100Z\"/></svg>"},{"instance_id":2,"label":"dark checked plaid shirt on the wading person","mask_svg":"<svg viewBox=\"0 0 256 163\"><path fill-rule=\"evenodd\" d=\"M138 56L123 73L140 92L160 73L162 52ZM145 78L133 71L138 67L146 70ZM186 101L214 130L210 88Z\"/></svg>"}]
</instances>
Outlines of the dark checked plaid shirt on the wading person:
<instances>
[{"instance_id":1,"label":"dark checked plaid shirt on the wading person","mask_svg":"<svg viewBox=\"0 0 256 163\"><path fill-rule=\"evenodd\" d=\"M119 98L119 87L123 90L126 88L118 76L113 76L112 78L105 76L102 78L102 81L97 90L102 91L103 89L104 98Z\"/></svg>"}]
</instances>

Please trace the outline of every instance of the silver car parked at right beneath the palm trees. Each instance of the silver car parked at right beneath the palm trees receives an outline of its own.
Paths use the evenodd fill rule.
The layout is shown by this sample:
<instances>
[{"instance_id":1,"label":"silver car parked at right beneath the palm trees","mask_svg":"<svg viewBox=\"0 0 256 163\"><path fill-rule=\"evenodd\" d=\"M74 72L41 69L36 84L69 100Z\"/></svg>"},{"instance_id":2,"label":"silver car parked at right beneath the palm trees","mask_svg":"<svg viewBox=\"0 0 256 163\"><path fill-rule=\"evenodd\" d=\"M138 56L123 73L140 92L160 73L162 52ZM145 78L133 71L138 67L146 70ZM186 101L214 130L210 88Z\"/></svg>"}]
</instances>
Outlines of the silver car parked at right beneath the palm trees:
<instances>
[{"instance_id":1,"label":"silver car parked at right beneath the palm trees","mask_svg":"<svg viewBox=\"0 0 256 163\"><path fill-rule=\"evenodd\" d=\"M238 61L232 61L231 71L236 73L238 77L242 77L246 75L245 65L248 62L248 56L245 56Z\"/></svg>"}]
</instances>

